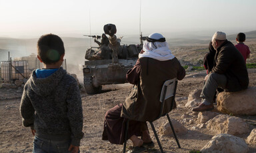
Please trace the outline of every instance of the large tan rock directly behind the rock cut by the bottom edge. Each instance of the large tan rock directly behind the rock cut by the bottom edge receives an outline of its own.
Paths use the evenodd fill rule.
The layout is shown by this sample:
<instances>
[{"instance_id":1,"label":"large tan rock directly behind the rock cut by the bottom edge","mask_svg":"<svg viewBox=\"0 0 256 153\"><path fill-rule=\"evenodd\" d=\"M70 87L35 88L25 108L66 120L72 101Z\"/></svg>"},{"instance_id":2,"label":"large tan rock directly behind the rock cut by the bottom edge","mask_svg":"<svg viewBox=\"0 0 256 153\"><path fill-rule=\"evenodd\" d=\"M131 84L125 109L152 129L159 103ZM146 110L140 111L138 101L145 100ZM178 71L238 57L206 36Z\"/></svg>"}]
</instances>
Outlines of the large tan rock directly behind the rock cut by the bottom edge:
<instances>
[{"instance_id":1,"label":"large tan rock directly behind the rock cut by the bottom edge","mask_svg":"<svg viewBox=\"0 0 256 153\"><path fill-rule=\"evenodd\" d=\"M239 135L251 132L249 130L249 124L245 120L227 114L219 114L205 124L207 124L207 129L215 134Z\"/></svg>"}]
</instances>

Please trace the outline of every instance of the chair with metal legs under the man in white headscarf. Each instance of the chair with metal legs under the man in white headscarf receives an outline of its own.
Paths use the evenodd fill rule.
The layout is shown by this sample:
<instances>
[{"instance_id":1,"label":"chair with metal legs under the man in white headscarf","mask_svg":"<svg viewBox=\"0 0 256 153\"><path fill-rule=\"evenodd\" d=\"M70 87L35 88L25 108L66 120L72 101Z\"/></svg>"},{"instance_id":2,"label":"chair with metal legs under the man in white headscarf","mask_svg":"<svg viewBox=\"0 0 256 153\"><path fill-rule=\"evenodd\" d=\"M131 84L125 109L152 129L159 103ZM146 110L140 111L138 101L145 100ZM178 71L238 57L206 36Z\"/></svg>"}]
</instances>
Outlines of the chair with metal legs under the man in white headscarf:
<instances>
[{"instance_id":1,"label":"chair with metal legs under the man in white headscarf","mask_svg":"<svg viewBox=\"0 0 256 153\"><path fill-rule=\"evenodd\" d=\"M173 135L174 135L175 140L177 142L177 145L179 146L179 148L181 148L181 146L179 144L179 140L178 140L178 138L176 136L176 133L175 133L175 130L173 128L173 124L171 123L171 119L169 117L168 112L166 114L163 114L163 108L164 108L164 105L165 105L165 100L167 98L173 97L173 99L171 101L171 110L173 108L173 105L174 105L174 102L175 102L177 82L178 82L177 78L173 78L172 80L166 80L165 83L163 84L163 87L162 87L162 90L161 90L161 96L160 96L160 100L159 100L161 102L161 110L160 110L159 116L155 120L161 118L161 116L167 116L169 124L171 126L171 130L173 131ZM169 110L169 112L171 112L171 110ZM159 145L159 148L160 148L161 152L163 153L163 147L162 147L161 142L160 142L160 140L157 136L155 126L153 125L153 122L149 122L149 123L151 125L151 128L152 128L154 134L155 134L155 138L157 139L157 143ZM128 127L129 127L129 120L127 120L126 125L125 125L125 141L124 141L124 144L123 144L123 153L126 152Z\"/></svg>"}]
</instances>

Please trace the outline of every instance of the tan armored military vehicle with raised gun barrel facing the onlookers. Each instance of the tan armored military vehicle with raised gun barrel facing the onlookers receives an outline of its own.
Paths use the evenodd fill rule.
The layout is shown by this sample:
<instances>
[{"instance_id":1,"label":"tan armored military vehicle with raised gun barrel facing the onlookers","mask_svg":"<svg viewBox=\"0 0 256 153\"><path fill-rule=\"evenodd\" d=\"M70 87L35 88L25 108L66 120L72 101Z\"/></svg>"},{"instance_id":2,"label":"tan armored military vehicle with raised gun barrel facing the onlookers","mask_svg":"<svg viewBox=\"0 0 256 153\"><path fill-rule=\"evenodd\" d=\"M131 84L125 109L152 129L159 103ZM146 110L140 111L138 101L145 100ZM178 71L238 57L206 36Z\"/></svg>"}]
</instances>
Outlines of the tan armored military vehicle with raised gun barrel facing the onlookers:
<instances>
[{"instance_id":1,"label":"tan armored military vehicle with raised gun barrel facing the onlookers","mask_svg":"<svg viewBox=\"0 0 256 153\"><path fill-rule=\"evenodd\" d=\"M142 45L120 45L113 24L104 26L109 35L109 45L91 47L85 54L83 65L83 81L87 94L97 94L102 85L121 84L127 82L126 73L135 65Z\"/></svg>"}]
</instances>

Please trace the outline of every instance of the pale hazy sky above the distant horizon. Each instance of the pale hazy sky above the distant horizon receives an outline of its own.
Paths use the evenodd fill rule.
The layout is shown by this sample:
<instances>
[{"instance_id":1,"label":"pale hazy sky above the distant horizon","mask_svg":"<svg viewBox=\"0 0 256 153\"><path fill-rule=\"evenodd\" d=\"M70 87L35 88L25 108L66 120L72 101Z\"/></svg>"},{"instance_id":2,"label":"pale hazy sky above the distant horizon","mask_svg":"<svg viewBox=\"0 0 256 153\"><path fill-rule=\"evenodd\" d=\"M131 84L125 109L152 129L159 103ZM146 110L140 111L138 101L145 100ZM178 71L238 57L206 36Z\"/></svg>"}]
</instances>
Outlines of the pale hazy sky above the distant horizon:
<instances>
[{"instance_id":1,"label":"pale hazy sky above the distant horizon","mask_svg":"<svg viewBox=\"0 0 256 153\"><path fill-rule=\"evenodd\" d=\"M255 8L255 0L0 0L0 37L101 35L107 23L139 35L140 13L146 34L233 34L256 30Z\"/></svg>"}]
</instances>

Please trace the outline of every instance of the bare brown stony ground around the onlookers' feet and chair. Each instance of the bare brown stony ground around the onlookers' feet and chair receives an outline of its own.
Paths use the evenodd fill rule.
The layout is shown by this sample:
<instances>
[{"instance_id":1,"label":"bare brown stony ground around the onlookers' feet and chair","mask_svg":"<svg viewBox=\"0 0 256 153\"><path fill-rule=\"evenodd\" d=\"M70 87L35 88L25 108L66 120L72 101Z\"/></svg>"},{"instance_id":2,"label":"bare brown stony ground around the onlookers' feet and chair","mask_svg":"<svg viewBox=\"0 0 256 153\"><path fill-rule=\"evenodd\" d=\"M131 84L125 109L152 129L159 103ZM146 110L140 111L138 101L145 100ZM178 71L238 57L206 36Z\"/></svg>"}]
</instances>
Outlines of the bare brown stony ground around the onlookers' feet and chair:
<instances>
[{"instance_id":1,"label":"bare brown stony ground around the onlookers' feet and chair","mask_svg":"<svg viewBox=\"0 0 256 153\"><path fill-rule=\"evenodd\" d=\"M249 69L249 86L256 86L256 69ZM189 92L195 88L202 88L205 71L187 72L187 76L178 82L177 87L177 109L169 113L171 118L182 121L181 116L188 114L189 122L183 122L188 129L187 134L178 135L181 149L178 148L175 139L169 136L160 136L165 152L189 152L190 150L201 150L214 136L205 128L195 128L198 124L197 113L185 108ZM88 95L81 93L83 100L84 138L81 140L81 152L122 152L122 145L111 144L101 140L103 131L104 115L109 108L125 100L129 94L131 84L115 84L103 86L100 94ZM21 123L19 114L19 103L21 100L22 88L6 89L0 88L0 152L31 152L33 147L33 136L29 128ZM256 128L256 116L240 116L250 123L251 129ZM155 121L155 128L167 122L167 118L160 118ZM149 126L151 137L155 142L155 149L149 152L159 152L155 136ZM241 138L247 138L243 134ZM128 141L128 146L131 142ZM250 145L250 152L256 152L256 144Z\"/></svg>"}]
</instances>

